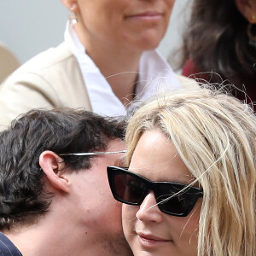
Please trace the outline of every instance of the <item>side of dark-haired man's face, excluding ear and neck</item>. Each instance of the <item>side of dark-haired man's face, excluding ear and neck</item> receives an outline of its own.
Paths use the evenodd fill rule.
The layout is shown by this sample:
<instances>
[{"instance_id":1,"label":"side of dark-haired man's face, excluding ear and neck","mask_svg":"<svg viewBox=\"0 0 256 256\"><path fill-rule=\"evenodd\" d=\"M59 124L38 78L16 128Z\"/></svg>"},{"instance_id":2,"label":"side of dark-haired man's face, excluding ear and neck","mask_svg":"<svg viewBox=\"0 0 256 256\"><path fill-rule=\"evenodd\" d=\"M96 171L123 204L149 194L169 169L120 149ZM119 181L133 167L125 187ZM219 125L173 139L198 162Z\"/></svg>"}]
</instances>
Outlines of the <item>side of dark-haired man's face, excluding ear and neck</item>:
<instances>
[{"instance_id":1,"label":"side of dark-haired man's face, excluding ear and neck","mask_svg":"<svg viewBox=\"0 0 256 256\"><path fill-rule=\"evenodd\" d=\"M117 140L110 143L108 151L123 149L124 143ZM76 229L84 234L88 247L95 245L88 255L130 255L121 225L121 205L113 199L106 171L106 166L119 165L122 156L99 156L89 171L70 174L74 186L69 200Z\"/></svg>"}]
</instances>

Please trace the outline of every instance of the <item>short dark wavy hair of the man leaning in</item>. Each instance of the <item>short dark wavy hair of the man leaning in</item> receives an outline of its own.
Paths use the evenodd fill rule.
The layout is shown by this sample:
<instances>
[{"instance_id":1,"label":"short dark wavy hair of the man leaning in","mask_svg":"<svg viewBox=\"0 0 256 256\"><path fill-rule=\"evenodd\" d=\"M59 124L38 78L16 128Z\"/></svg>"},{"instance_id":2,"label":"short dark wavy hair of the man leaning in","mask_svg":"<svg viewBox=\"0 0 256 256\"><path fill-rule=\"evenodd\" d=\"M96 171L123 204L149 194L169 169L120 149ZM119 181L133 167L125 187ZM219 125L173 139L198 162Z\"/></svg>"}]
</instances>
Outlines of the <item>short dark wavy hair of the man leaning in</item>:
<instances>
[{"instance_id":1,"label":"short dark wavy hair of the man leaning in","mask_svg":"<svg viewBox=\"0 0 256 256\"><path fill-rule=\"evenodd\" d=\"M93 152L123 138L125 122L84 110L34 109L0 133L0 230L31 223L48 211L53 195L44 190L38 160L45 150L56 154ZM74 172L88 169L91 156L63 156Z\"/></svg>"}]
</instances>

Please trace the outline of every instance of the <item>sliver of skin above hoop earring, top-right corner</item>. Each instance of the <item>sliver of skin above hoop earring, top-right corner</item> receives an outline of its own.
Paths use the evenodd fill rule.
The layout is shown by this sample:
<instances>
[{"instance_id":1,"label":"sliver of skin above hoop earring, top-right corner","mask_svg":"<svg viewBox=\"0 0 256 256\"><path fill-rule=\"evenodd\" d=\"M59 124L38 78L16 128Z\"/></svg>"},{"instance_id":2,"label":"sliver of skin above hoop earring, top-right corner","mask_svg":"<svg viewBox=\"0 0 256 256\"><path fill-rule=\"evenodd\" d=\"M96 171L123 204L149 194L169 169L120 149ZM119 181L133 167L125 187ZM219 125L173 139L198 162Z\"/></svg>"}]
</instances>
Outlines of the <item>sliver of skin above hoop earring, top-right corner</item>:
<instances>
[{"instance_id":1,"label":"sliver of skin above hoop earring, top-right corner","mask_svg":"<svg viewBox=\"0 0 256 256\"><path fill-rule=\"evenodd\" d=\"M253 1L254 0L235 0L236 8L251 24L256 23L256 9Z\"/></svg>"}]
</instances>

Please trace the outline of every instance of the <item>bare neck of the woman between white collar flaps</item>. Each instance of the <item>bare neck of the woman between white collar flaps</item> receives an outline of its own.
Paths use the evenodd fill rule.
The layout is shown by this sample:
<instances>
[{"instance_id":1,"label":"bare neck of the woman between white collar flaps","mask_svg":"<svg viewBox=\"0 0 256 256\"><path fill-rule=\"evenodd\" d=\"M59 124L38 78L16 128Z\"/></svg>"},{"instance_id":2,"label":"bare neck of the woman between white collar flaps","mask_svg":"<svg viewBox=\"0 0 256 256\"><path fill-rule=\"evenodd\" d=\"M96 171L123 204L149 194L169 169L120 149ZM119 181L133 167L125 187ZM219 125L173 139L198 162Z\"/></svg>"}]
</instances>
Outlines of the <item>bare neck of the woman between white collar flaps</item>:
<instances>
[{"instance_id":1,"label":"bare neck of the woman between white collar flaps","mask_svg":"<svg viewBox=\"0 0 256 256\"><path fill-rule=\"evenodd\" d=\"M137 83L139 61L142 51L125 49L116 42L104 42L86 37L79 26L75 27L86 53L95 62L102 75L108 80L113 93L124 105L133 99Z\"/></svg>"}]
</instances>

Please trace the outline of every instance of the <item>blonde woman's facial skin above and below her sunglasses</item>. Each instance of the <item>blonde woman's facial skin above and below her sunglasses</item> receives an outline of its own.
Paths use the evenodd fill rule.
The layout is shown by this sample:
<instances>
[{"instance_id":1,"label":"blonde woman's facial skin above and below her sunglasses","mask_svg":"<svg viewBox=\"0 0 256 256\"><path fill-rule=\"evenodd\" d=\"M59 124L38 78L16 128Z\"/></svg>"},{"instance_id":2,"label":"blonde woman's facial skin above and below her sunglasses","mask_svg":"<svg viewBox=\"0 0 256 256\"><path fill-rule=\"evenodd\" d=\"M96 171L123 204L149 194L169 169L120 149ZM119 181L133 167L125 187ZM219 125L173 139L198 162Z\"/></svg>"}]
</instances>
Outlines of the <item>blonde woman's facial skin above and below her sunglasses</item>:
<instances>
[{"instance_id":1,"label":"blonde woman's facial skin above and below her sunglasses","mask_svg":"<svg viewBox=\"0 0 256 256\"><path fill-rule=\"evenodd\" d=\"M193 180L172 142L159 130L143 133L132 155L129 170L152 181L188 184ZM153 191L140 207L123 204L125 238L134 255L196 256L196 227L201 199L187 217L160 212L155 204Z\"/></svg>"}]
</instances>

